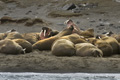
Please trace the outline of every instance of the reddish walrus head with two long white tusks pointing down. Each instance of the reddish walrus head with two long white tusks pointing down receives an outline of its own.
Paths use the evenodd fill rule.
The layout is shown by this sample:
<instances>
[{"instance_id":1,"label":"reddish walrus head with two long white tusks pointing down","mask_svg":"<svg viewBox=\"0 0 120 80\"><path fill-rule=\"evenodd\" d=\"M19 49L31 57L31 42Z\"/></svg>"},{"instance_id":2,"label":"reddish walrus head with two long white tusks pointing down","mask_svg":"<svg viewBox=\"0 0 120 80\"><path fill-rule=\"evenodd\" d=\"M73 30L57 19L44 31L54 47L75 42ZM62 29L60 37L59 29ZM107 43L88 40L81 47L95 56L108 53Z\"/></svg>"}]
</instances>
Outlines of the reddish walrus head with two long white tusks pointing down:
<instances>
[{"instance_id":1,"label":"reddish walrus head with two long white tusks pointing down","mask_svg":"<svg viewBox=\"0 0 120 80\"><path fill-rule=\"evenodd\" d=\"M51 31L52 30L50 28L48 28L48 27L42 27L42 30L40 32L40 38L41 39L48 38Z\"/></svg>"}]
</instances>

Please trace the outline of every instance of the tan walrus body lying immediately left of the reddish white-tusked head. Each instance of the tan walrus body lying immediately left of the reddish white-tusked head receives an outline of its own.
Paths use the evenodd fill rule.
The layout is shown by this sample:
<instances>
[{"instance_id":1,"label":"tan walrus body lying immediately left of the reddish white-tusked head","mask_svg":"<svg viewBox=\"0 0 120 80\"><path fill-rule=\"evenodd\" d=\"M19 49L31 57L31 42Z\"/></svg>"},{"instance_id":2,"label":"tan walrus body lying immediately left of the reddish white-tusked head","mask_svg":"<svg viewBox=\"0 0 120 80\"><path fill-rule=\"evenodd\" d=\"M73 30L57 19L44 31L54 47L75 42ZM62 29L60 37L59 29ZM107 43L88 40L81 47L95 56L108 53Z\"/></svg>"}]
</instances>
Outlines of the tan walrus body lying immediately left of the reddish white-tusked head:
<instances>
[{"instance_id":1,"label":"tan walrus body lying immediately left of the reddish white-tusked head","mask_svg":"<svg viewBox=\"0 0 120 80\"><path fill-rule=\"evenodd\" d=\"M37 41L40 40L40 33L35 32L35 33L23 33L22 34L23 38L30 42L31 44L36 43Z\"/></svg>"}]
</instances>

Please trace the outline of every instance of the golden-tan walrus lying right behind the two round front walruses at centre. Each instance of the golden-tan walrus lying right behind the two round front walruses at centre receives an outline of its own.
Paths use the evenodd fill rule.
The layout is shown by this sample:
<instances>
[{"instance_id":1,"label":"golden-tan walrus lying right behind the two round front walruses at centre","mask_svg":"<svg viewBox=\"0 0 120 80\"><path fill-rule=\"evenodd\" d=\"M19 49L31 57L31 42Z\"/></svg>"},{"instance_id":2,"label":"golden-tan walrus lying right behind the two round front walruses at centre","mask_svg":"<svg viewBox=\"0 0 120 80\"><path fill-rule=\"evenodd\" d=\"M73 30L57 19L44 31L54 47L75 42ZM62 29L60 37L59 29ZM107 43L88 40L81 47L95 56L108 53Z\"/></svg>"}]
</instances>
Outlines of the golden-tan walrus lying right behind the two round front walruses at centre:
<instances>
[{"instance_id":1,"label":"golden-tan walrus lying right behind the two round front walruses at centre","mask_svg":"<svg viewBox=\"0 0 120 80\"><path fill-rule=\"evenodd\" d=\"M87 42L86 39L83 36L80 36L76 33L73 33L73 34L70 34L70 35L67 35L67 36L63 36L60 39L70 40L74 44Z\"/></svg>"}]
</instances>

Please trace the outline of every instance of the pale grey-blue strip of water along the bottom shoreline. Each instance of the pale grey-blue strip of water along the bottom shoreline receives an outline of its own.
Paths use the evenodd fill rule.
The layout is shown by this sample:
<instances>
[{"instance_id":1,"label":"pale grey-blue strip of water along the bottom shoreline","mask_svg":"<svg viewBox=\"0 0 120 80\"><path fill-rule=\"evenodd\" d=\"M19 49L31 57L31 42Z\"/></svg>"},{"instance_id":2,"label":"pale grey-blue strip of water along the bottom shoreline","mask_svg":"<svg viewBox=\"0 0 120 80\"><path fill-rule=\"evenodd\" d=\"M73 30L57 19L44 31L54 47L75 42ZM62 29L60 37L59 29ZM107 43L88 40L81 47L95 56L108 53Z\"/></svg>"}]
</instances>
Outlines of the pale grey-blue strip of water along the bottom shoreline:
<instances>
[{"instance_id":1,"label":"pale grey-blue strip of water along the bottom shoreline","mask_svg":"<svg viewBox=\"0 0 120 80\"><path fill-rule=\"evenodd\" d=\"M120 80L114 73L0 73L0 80Z\"/></svg>"}]
</instances>

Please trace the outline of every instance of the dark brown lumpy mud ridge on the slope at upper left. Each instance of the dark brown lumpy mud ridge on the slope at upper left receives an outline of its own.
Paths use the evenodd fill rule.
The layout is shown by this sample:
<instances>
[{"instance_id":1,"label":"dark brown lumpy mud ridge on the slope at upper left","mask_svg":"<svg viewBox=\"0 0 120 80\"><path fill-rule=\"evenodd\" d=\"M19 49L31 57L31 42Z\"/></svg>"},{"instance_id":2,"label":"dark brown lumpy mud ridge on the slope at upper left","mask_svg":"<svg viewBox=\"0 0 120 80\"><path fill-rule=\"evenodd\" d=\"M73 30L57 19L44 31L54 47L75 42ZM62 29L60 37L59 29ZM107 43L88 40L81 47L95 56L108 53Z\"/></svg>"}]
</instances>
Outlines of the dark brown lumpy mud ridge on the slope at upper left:
<instances>
[{"instance_id":1,"label":"dark brown lumpy mud ridge on the slope at upper left","mask_svg":"<svg viewBox=\"0 0 120 80\"><path fill-rule=\"evenodd\" d=\"M28 18L28 17L24 17L24 18L20 18L20 19L15 19L9 16L3 16L0 19L0 23L1 24L5 24L5 23L24 23L25 26L33 26L35 24L42 24L42 25L48 25L50 24L49 22L42 20L40 18Z\"/></svg>"}]
</instances>

